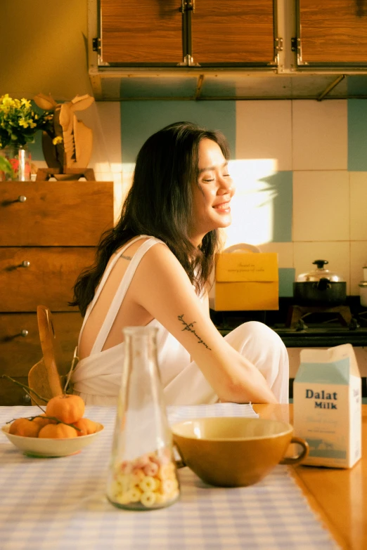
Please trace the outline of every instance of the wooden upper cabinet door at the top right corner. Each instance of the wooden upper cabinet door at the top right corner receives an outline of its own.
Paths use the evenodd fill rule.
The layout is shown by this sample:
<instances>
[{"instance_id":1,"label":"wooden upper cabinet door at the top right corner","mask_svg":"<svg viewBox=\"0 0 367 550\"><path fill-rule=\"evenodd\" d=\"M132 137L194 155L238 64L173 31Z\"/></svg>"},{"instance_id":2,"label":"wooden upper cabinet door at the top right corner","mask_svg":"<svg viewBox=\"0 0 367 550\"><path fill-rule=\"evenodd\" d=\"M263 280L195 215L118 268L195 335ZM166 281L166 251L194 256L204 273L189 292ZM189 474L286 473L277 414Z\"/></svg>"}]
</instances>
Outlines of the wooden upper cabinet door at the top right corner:
<instances>
[{"instance_id":1,"label":"wooden upper cabinet door at the top right corner","mask_svg":"<svg viewBox=\"0 0 367 550\"><path fill-rule=\"evenodd\" d=\"M300 65L367 65L367 2L297 0Z\"/></svg>"}]
</instances>

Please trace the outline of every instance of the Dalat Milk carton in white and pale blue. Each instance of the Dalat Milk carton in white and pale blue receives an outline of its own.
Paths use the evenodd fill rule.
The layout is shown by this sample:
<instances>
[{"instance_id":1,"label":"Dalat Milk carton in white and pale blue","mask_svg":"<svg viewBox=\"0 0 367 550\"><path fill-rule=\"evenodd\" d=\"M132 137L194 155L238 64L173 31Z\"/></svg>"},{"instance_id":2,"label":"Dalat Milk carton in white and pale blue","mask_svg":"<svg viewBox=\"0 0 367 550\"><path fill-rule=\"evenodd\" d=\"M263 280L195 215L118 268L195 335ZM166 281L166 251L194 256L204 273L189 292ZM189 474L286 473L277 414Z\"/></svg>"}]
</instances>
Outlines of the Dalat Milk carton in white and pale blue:
<instances>
[{"instance_id":1,"label":"Dalat Milk carton in white and pale blue","mask_svg":"<svg viewBox=\"0 0 367 550\"><path fill-rule=\"evenodd\" d=\"M352 468L361 458L361 375L350 343L304 349L293 385L295 436L309 444L302 464Z\"/></svg>"}]
</instances>

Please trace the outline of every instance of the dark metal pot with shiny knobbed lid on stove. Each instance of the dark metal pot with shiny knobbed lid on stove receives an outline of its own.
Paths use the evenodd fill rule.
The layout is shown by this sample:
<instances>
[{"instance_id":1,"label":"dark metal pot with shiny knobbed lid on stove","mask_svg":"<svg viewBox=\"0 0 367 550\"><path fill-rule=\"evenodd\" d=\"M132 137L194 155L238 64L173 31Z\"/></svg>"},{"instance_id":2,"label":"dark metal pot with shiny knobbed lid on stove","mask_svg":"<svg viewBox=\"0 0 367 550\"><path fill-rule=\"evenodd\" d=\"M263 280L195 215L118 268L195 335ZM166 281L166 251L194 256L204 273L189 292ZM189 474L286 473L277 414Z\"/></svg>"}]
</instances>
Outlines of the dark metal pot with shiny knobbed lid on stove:
<instances>
[{"instance_id":1,"label":"dark metal pot with shiny knobbed lid on stove","mask_svg":"<svg viewBox=\"0 0 367 550\"><path fill-rule=\"evenodd\" d=\"M302 273L293 283L293 297L299 306L340 306L347 299L347 283L342 275L324 266L327 260L315 260L317 269Z\"/></svg>"}]
</instances>

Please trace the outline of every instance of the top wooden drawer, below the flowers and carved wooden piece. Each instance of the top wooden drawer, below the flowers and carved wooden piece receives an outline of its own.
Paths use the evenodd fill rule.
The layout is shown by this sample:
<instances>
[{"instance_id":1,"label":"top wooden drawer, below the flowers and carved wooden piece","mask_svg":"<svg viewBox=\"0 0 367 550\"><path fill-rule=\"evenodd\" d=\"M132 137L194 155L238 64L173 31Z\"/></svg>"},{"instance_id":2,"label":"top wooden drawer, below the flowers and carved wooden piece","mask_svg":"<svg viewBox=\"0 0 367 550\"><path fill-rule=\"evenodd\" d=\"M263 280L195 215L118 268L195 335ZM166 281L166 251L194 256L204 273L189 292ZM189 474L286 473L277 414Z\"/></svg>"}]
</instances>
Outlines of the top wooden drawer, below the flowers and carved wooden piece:
<instances>
[{"instance_id":1,"label":"top wooden drawer, below the flowers and carved wooden piece","mask_svg":"<svg viewBox=\"0 0 367 550\"><path fill-rule=\"evenodd\" d=\"M0 182L0 246L96 246L112 225L110 181Z\"/></svg>"}]
</instances>

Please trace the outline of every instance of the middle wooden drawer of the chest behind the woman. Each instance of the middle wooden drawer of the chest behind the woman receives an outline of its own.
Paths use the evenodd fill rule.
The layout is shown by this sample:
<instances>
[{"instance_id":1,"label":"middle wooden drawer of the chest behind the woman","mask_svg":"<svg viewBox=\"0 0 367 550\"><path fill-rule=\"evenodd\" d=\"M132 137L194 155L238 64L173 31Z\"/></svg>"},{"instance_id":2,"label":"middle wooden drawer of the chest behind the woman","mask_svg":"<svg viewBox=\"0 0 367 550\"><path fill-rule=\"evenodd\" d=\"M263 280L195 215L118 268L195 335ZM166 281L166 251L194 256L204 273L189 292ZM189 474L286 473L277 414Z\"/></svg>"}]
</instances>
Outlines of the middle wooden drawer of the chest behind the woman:
<instances>
[{"instance_id":1,"label":"middle wooden drawer of the chest behind the woman","mask_svg":"<svg viewBox=\"0 0 367 550\"><path fill-rule=\"evenodd\" d=\"M94 247L0 248L0 311L72 311L79 273L94 262ZM22 262L28 267L21 267ZM74 308L77 310L77 308Z\"/></svg>"}]
</instances>

